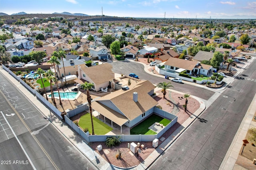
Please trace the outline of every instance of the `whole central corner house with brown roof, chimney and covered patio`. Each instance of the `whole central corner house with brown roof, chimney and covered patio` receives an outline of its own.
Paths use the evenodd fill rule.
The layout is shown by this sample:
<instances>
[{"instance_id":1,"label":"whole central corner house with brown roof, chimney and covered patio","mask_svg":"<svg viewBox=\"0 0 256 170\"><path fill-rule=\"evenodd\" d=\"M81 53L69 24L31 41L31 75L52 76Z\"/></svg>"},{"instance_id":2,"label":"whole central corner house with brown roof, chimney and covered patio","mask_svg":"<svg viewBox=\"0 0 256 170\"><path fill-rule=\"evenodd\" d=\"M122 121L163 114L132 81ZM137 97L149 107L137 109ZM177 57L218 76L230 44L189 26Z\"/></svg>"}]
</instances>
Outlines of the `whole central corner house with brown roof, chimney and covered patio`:
<instances>
[{"instance_id":1,"label":"whole central corner house with brown roof, chimney and covered patio","mask_svg":"<svg viewBox=\"0 0 256 170\"><path fill-rule=\"evenodd\" d=\"M114 121L121 131L122 125L133 127L152 115L158 104L151 97L155 86L149 81L139 81L129 87L127 91L120 89L92 102L92 109Z\"/></svg>"}]
</instances>

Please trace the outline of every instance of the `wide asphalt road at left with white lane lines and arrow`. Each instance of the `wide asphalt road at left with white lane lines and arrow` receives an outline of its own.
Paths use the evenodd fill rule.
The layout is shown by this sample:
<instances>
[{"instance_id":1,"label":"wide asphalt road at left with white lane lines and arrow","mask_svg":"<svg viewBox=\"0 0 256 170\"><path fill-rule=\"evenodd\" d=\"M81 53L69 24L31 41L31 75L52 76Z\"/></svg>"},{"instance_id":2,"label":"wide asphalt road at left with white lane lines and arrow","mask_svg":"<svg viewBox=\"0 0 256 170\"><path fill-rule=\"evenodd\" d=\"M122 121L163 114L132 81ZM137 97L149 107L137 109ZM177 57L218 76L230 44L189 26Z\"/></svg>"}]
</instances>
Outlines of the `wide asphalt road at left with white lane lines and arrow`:
<instances>
[{"instance_id":1,"label":"wide asphalt road at left with white lane lines and arrow","mask_svg":"<svg viewBox=\"0 0 256 170\"><path fill-rule=\"evenodd\" d=\"M97 169L0 73L0 170Z\"/></svg>"}]
</instances>

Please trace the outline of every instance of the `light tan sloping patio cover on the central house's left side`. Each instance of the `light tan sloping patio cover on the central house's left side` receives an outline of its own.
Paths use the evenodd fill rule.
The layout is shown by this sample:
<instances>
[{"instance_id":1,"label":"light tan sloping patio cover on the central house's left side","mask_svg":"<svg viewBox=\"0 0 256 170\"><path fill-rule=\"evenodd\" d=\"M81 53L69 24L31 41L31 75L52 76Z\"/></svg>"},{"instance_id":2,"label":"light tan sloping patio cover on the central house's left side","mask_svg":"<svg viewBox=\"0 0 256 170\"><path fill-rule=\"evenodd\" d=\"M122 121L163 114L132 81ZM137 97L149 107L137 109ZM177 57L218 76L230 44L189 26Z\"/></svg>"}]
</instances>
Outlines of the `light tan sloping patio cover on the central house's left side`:
<instances>
[{"instance_id":1,"label":"light tan sloping patio cover on the central house's left side","mask_svg":"<svg viewBox=\"0 0 256 170\"><path fill-rule=\"evenodd\" d=\"M125 116L121 115L117 111L114 111L113 109L110 109L109 107L106 107L105 105L102 105L99 102L92 102L92 109L99 112L101 115L108 118L110 121L113 121L120 127L128 121Z\"/></svg>"}]
</instances>

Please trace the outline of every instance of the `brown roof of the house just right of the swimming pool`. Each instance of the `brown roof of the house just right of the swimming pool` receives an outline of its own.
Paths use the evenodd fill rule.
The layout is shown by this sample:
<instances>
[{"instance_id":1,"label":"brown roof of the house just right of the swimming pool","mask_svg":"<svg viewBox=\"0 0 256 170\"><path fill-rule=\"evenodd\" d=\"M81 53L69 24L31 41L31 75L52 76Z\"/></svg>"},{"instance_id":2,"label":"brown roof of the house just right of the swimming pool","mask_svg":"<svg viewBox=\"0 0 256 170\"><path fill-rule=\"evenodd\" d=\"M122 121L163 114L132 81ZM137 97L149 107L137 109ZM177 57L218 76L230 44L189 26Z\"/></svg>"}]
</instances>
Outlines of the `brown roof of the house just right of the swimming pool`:
<instances>
[{"instance_id":1,"label":"brown roof of the house just right of the swimming pool","mask_svg":"<svg viewBox=\"0 0 256 170\"><path fill-rule=\"evenodd\" d=\"M114 79L114 73L110 63L85 67L82 70L96 85Z\"/></svg>"}]
</instances>

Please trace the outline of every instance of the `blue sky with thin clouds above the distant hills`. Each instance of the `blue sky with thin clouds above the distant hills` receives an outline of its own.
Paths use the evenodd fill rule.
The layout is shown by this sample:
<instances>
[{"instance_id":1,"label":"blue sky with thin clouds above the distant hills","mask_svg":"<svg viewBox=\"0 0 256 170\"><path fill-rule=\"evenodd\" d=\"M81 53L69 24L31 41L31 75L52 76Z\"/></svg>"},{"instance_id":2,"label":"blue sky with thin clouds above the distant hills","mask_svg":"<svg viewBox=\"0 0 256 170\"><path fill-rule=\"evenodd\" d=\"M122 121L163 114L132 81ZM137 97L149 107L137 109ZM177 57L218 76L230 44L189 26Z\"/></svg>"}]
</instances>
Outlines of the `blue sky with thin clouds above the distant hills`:
<instances>
[{"instance_id":1,"label":"blue sky with thin clouds above the distant hills","mask_svg":"<svg viewBox=\"0 0 256 170\"><path fill-rule=\"evenodd\" d=\"M227 18L246 15L256 18L252 0L0 0L0 12L14 14L82 13L142 18ZM236 17L228 17L236 18ZM247 17L246 17L247 18Z\"/></svg>"}]
</instances>

